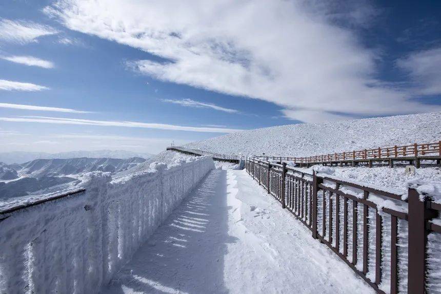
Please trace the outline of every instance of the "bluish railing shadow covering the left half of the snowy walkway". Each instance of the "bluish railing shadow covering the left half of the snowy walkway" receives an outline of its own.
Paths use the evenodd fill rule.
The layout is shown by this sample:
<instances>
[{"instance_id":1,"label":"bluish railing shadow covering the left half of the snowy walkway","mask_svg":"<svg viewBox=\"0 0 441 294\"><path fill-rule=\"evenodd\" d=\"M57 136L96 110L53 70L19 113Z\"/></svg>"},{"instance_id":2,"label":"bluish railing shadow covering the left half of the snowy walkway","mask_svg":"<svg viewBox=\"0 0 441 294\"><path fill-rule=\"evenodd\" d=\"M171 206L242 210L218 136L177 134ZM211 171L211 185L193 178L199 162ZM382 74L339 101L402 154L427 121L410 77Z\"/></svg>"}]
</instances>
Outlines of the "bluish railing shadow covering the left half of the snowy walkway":
<instances>
[{"instance_id":1,"label":"bluish railing shadow covering the left half of the snowy walkway","mask_svg":"<svg viewBox=\"0 0 441 294\"><path fill-rule=\"evenodd\" d=\"M103 292L228 292L224 256L236 238L228 235L226 172L212 171Z\"/></svg>"}]
</instances>

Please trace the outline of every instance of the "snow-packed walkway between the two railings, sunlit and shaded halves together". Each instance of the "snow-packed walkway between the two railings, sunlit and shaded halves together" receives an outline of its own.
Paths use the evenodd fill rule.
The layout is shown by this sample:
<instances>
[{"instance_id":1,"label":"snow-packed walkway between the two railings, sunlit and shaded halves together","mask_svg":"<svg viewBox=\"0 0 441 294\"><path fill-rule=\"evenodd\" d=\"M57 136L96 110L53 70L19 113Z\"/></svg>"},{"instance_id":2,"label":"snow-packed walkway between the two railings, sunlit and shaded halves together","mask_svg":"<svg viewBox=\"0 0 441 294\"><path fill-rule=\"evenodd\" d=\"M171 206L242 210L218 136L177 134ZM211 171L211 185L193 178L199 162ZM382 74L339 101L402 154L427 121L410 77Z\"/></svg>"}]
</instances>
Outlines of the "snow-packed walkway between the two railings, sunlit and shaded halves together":
<instances>
[{"instance_id":1,"label":"snow-packed walkway between the two railings, sunlit and shaded halves together","mask_svg":"<svg viewBox=\"0 0 441 294\"><path fill-rule=\"evenodd\" d=\"M103 293L374 293L244 171L214 170Z\"/></svg>"}]
</instances>

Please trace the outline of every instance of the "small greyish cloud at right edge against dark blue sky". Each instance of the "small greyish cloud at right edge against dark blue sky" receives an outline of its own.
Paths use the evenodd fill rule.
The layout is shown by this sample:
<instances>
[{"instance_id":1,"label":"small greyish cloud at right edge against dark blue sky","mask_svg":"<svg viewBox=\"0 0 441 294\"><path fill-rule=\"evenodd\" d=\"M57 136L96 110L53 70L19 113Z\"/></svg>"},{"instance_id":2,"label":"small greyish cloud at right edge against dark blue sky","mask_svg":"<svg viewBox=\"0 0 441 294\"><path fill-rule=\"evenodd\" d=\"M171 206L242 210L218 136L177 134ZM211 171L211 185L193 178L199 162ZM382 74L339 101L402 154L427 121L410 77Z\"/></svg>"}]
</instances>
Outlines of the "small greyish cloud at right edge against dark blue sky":
<instances>
[{"instance_id":1,"label":"small greyish cloud at right edge against dark blue sky","mask_svg":"<svg viewBox=\"0 0 441 294\"><path fill-rule=\"evenodd\" d=\"M397 66L410 74L416 94L441 94L441 48L413 52Z\"/></svg>"}]
</instances>

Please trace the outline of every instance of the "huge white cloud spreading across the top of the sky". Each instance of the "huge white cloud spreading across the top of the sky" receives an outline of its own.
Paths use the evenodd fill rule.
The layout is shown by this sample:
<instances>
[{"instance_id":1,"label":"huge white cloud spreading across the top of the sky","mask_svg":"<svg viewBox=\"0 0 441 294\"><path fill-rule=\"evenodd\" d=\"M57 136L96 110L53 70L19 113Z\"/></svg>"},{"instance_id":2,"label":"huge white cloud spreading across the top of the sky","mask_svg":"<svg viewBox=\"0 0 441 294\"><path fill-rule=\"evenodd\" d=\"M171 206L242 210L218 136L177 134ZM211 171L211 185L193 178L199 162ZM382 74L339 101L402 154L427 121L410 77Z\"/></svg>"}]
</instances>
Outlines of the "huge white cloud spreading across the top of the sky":
<instances>
[{"instance_id":1,"label":"huge white cloud spreading across the top of the sky","mask_svg":"<svg viewBox=\"0 0 441 294\"><path fill-rule=\"evenodd\" d=\"M364 26L367 15L376 15L360 11L344 17L327 2L283 0L59 0L45 8L69 29L169 60L129 63L164 81L325 115L432 111L408 90L376 79L377 51L362 45L357 30L339 25L349 19L351 28Z\"/></svg>"}]
</instances>

